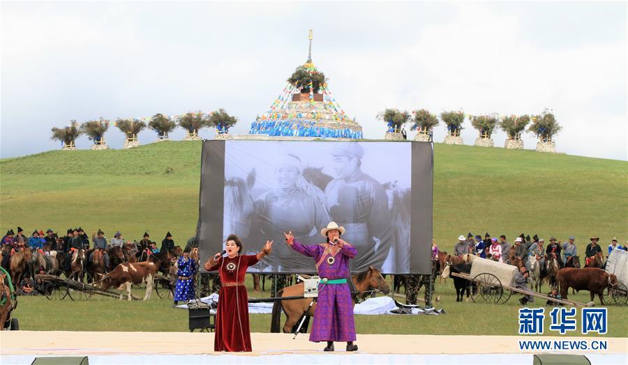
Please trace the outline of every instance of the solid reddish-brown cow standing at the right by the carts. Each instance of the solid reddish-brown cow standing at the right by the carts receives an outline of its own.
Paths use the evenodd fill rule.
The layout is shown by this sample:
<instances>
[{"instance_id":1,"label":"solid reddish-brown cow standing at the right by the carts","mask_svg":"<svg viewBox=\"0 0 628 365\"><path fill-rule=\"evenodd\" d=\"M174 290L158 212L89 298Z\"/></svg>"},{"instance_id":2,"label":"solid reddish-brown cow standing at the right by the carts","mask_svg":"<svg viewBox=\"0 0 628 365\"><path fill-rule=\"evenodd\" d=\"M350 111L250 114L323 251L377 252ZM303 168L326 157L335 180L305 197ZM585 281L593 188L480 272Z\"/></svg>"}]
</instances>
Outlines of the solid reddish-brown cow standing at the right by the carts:
<instances>
[{"instance_id":1,"label":"solid reddish-brown cow standing at the right by the carts","mask_svg":"<svg viewBox=\"0 0 628 365\"><path fill-rule=\"evenodd\" d=\"M569 288L589 290L591 301L597 294L601 305L604 305L604 289L617 285L617 277L615 275L608 274L608 272L597 267L585 267L583 269L567 267L558 271L556 280L558 280L562 299L567 299Z\"/></svg>"}]
</instances>

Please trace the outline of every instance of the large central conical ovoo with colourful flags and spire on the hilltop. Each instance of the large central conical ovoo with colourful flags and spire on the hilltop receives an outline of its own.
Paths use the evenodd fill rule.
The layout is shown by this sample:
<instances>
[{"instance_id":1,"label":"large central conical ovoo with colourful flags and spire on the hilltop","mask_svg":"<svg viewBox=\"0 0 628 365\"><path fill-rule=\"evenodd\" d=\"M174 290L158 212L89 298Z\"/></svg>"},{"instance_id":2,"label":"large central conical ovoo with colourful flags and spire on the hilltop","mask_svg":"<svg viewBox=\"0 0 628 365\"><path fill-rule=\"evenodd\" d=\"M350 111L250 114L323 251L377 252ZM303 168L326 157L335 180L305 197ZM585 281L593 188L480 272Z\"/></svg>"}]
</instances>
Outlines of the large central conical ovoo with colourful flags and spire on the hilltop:
<instances>
[{"instance_id":1,"label":"large central conical ovoo with colourful flags and spire on the hilltop","mask_svg":"<svg viewBox=\"0 0 628 365\"><path fill-rule=\"evenodd\" d=\"M349 118L312 62L312 31L308 61L288 79L269 110L251 123L250 134L271 137L361 139L362 127Z\"/></svg>"}]
</instances>

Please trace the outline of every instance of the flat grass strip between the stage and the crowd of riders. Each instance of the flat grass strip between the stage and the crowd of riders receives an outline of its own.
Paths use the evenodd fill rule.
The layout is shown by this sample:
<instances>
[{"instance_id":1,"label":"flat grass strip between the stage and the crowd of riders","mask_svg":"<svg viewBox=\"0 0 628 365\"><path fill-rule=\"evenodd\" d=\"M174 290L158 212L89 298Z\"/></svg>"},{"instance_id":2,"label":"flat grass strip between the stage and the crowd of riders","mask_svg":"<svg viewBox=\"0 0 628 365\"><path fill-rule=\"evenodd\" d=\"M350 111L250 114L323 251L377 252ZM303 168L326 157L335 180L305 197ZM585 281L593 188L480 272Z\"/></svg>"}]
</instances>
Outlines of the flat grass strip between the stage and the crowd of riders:
<instances>
[{"instance_id":1,"label":"flat grass strip between the stage and the crowd of riders","mask_svg":"<svg viewBox=\"0 0 628 365\"><path fill-rule=\"evenodd\" d=\"M260 297L253 291L251 277L247 277L249 295ZM135 290L143 295L143 290ZM547 291L547 288L544 288ZM508 302L500 305L456 302L453 281L436 284L436 295L440 296L437 308L444 308L447 314L441 316L355 316L358 334L473 334L473 335L516 335L518 332L519 295L513 295ZM268 297L269 292L264 292ZM423 297L423 293L419 293ZM582 291L569 299L588 302L589 293ZM401 300L401 302L404 302ZM599 304L597 298L596 304ZM71 302L47 300L46 297L19 297L17 310L13 316L19 318L20 329L36 331L146 331L146 332L186 332L188 313L173 309L172 301L161 300L153 293L148 302L126 302L107 297L92 296L87 301ZM542 306L537 300L530 306ZM608 333L611 337L628 337L628 316L625 307L608 305ZM545 335L555 335L549 327L549 307L546 307ZM567 332L569 336L581 336L579 319L581 309L577 309L578 331ZM251 332L269 332L269 314L251 314ZM285 317L284 317L285 318ZM283 325L283 320L282 320Z\"/></svg>"}]
</instances>

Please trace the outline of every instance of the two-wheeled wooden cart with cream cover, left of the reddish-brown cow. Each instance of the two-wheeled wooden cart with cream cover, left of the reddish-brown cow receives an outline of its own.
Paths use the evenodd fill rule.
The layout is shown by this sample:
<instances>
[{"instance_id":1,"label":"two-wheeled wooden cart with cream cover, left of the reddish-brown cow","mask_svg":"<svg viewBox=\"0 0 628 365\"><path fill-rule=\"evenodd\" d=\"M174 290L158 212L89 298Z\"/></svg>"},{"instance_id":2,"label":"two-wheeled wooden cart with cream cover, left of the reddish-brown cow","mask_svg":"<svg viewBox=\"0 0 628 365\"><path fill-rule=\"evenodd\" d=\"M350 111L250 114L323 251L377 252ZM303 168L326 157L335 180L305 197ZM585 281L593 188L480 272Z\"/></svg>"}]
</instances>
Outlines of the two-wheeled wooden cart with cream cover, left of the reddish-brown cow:
<instances>
[{"instance_id":1,"label":"two-wheeled wooden cart with cream cover, left of the reddish-brown cow","mask_svg":"<svg viewBox=\"0 0 628 365\"><path fill-rule=\"evenodd\" d=\"M581 303L574 300L560 300L547 295L515 287L515 275L518 268L506 263L488 260L477 256L468 256L471 263L469 274L452 272L451 275L467 279L474 284L471 288L473 302L488 304L504 304L508 302L512 293L531 295L532 297L549 300L571 306L592 306L593 302Z\"/></svg>"}]
</instances>

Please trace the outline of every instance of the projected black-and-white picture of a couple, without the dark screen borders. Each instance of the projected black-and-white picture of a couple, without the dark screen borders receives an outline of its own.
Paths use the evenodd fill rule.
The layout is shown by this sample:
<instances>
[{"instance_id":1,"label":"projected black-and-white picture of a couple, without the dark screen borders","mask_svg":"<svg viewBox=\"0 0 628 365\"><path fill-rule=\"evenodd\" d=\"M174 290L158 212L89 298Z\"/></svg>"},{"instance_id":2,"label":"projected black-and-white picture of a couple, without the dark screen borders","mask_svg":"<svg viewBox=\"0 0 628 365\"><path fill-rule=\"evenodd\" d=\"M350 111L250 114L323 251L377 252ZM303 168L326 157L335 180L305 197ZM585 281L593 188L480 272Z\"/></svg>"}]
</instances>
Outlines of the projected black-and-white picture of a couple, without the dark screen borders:
<instances>
[{"instance_id":1,"label":"projected black-and-white picture of a couple, without the dark screen borders","mask_svg":"<svg viewBox=\"0 0 628 365\"><path fill-rule=\"evenodd\" d=\"M225 146L223 239L235 233L250 252L266 240L273 254L251 269L311 272L311 260L283 244L292 231L320 244L329 222L357 257L352 271L410 267L410 144L230 141ZM253 270L252 270L253 271Z\"/></svg>"}]
</instances>

